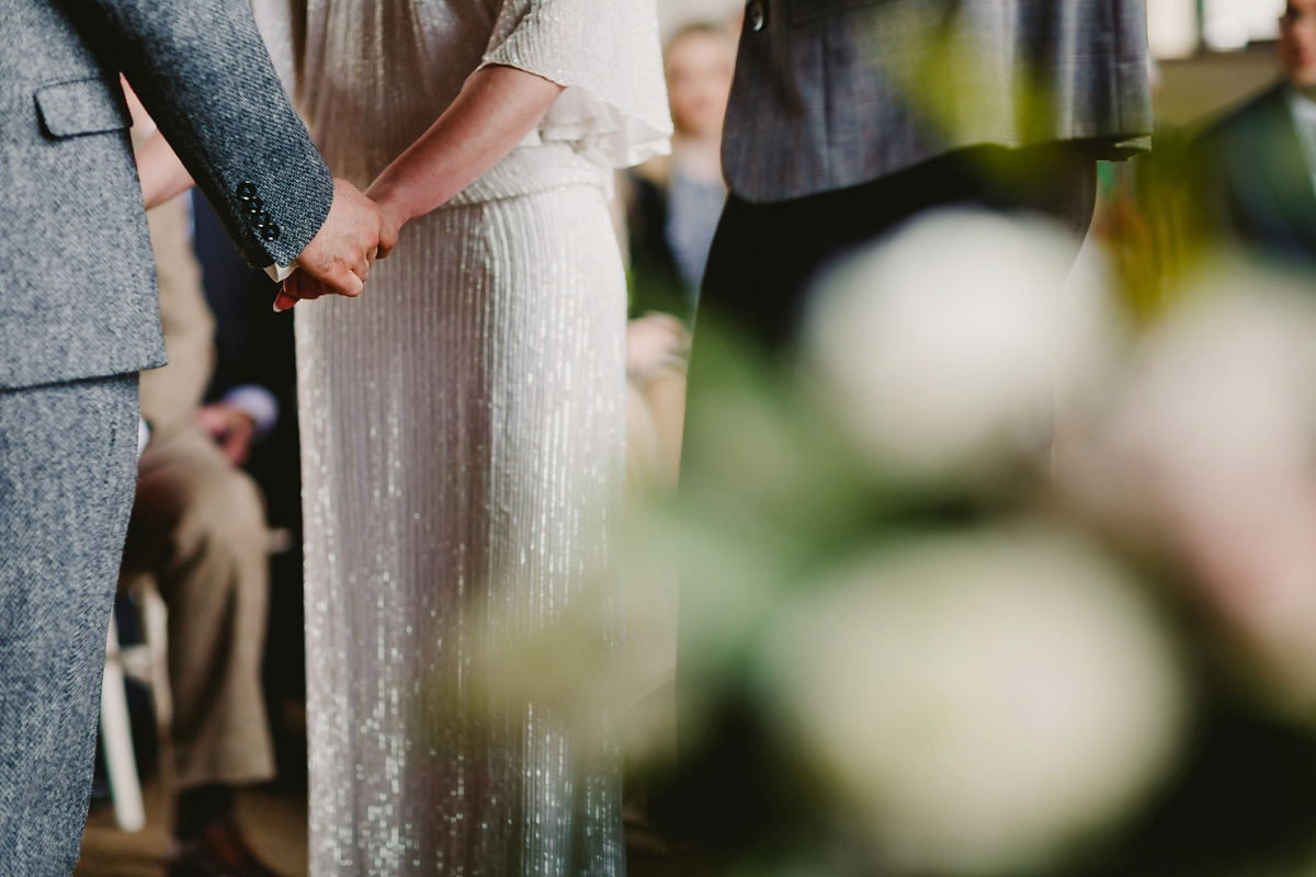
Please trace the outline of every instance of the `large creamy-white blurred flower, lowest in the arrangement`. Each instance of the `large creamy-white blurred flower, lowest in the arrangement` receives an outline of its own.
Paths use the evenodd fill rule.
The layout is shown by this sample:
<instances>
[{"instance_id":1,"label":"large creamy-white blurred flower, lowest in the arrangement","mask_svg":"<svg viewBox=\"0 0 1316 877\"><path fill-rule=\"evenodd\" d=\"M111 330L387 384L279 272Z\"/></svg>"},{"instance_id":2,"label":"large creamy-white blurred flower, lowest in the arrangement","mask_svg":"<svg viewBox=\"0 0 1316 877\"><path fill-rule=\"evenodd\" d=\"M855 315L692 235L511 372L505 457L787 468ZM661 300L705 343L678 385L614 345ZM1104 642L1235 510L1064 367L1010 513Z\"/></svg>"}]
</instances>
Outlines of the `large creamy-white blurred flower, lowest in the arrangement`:
<instances>
[{"instance_id":1,"label":"large creamy-white blurred flower, lowest in the arrangement","mask_svg":"<svg viewBox=\"0 0 1316 877\"><path fill-rule=\"evenodd\" d=\"M932 538L807 593L765 644L767 681L896 873L1051 864L1128 815L1180 742L1166 628L1070 536Z\"/></svg>"}]
</instances>

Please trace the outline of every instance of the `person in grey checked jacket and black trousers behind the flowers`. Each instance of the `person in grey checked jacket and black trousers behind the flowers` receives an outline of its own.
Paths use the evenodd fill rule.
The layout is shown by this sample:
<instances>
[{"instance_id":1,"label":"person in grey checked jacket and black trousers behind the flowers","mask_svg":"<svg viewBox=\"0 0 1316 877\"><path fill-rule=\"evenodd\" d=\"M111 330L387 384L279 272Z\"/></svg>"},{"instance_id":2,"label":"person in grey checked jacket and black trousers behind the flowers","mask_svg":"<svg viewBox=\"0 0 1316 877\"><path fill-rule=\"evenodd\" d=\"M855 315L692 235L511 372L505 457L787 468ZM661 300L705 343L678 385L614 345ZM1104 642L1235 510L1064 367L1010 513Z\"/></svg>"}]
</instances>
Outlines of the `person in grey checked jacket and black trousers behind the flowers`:
<instances>
[{"instance_id":1,"label":"person in grey checked jacket and black trousers behind the flowers","mask_svg":"<svg viewBox=\"0 0 1316 877\"><path fill-rule=\"evenodd\" d=\"M821 264L942 205L1079 234L1150 133L1144 0L750 0L700 309L788 344Z\"/></svg>"}]
</instances>

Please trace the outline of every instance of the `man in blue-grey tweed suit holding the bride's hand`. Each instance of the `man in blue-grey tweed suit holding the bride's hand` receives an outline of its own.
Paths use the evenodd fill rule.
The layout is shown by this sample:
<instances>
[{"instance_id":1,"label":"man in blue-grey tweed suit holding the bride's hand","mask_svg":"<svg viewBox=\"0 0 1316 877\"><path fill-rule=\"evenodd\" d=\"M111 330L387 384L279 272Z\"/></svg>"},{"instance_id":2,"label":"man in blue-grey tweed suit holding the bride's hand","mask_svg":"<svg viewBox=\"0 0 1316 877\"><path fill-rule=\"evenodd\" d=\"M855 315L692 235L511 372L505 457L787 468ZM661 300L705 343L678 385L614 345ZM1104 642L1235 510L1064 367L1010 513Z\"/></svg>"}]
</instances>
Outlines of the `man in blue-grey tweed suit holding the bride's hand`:
<instances>
[{"instance_id":1,"label":"man in blue-grey tweed suit holding the bride's hand","mask_svg":"<svg viewBox=\"0 0 1316 877\"><path fill-rule=\"evenodd\" d=\"M396 239L336 181L242 0L0 0L0 874L70 874L163 364L126 75L249 262L355 295Z\"/></svg>"}]
</instances>

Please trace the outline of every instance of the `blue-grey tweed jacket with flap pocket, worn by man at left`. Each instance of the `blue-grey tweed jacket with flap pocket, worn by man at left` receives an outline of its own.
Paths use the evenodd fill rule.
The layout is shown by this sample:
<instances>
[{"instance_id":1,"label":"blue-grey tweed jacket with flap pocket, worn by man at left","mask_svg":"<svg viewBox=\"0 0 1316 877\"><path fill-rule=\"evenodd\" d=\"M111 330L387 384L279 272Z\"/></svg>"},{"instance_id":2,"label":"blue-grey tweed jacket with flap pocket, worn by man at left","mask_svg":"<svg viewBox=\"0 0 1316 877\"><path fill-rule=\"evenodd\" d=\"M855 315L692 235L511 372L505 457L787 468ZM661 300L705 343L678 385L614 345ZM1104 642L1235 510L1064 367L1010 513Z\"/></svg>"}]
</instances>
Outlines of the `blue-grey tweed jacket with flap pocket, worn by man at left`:
<instances>
[{"instance_id":1,"label":"blue-grey tweed jacket with flap pocket, worn by man at left","mask_svg":"<svg viewBox=\"0 0 1316 877\"><path fill-rule=\"evenodd\" d=\"M328 216L243 0L0 0L0 389L164 363L120 72L250 263Z\"/></svg>"}]
</instances>

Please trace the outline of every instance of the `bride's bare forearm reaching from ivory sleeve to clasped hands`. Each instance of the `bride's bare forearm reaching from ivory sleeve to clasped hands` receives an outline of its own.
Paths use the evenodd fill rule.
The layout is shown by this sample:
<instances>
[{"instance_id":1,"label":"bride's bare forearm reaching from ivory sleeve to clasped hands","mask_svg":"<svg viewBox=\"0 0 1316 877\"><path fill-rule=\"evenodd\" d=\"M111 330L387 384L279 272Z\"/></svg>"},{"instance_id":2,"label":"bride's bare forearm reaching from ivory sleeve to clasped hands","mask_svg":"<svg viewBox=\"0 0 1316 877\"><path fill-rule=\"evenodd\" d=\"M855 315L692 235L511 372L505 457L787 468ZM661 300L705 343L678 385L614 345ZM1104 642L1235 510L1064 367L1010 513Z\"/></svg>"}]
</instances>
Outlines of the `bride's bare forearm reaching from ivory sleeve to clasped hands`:
<instances>
[{"instance_id":1,"label":"bride's bare forearm reaching from ivory sleeve to clasped hands","mask_svg":"<svg viewBox=\"0 0 1316 877\"><path fill-rule=\"evenodd\" d=\"M429 213L511 153L559 93L562 85L516 67L480 70L366 195L399 227Z\"/></svg>"}]
</instances>

